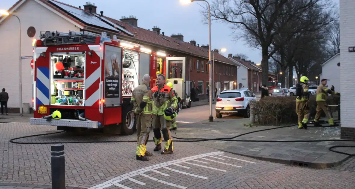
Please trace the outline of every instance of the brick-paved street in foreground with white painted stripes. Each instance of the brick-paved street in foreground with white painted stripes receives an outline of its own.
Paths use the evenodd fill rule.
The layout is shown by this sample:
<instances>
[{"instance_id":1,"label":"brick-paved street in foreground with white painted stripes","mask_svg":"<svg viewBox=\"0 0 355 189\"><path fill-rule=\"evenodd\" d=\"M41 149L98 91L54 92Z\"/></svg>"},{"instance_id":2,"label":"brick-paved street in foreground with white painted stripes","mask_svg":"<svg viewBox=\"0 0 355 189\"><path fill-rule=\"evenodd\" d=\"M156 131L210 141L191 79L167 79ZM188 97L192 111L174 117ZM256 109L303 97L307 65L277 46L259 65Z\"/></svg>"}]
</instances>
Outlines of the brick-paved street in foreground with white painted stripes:
<instances>
[{"instance_id":1,"label":"brick-paved street in foreground with white painted stripes","mask_svg":"<svg viewBox=\"0 0 355 189\"><path fill-rule=\"evenodd\" d=\"M12 183L13 186L15 184L31 184L28 185L29 188L22 189L35 188L33 184L42 185L43 188L51 185L50 144L12 144L8 142L10 138L14 137L50 132L55 132L53 127L32 126L28 123L0 124L0 150L3 152L0 154L0 162L2 162L0 183L8 185ZM59 133L53 136L33 137L19 141L124 141L134 138L136 137L83 132L78 134ZM106 188L179 188L176 187L179 185L180 188L335 189L340 187L350 189L355 185L355 161L353 159L346 161L342 166L315 170L223 153L193 143L175 142L174 145L174 154L163 156L154 153L151 161L141 162L134 158L135 143L65 144L67 189L91 188L102 183L112 184L114 179L121 181ZM148 143L147 149L152 148L153 144ZM205 156L206 153L214 154ZM167 166L162 166L163 162L166 162L164 165ZM155 165L160 167L149 170L151 166ZM140 170L142 168L145 169ZM136 173L145 172L135 175L134 171L137 171ZM124 174L127 175L124 176ZM123 179L124 177L126 178ZM165 182L171 184L168 185ZM96 187L95 189L103 188Z\"/></svg>"}]
</instances>

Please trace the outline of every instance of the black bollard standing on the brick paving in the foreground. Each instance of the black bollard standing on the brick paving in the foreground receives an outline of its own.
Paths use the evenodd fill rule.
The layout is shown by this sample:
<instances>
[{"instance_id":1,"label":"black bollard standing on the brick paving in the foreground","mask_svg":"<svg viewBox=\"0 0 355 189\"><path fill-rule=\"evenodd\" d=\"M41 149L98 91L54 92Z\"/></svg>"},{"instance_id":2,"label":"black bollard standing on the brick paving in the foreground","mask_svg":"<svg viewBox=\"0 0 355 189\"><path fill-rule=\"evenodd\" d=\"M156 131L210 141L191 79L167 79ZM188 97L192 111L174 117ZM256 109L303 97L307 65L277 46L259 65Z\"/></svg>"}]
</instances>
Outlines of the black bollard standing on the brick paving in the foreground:
<instances>
[{"instance_id":1,"label":"black bollard standing on the brick paving in the foreground","mask_svg":"<svg viewBox=\"0 0 355 189\"><path fill-rule=\"evenodd\" d=\"M51 146L52 189L65 189L64 145Z\"/></svg>"}]
</instances>

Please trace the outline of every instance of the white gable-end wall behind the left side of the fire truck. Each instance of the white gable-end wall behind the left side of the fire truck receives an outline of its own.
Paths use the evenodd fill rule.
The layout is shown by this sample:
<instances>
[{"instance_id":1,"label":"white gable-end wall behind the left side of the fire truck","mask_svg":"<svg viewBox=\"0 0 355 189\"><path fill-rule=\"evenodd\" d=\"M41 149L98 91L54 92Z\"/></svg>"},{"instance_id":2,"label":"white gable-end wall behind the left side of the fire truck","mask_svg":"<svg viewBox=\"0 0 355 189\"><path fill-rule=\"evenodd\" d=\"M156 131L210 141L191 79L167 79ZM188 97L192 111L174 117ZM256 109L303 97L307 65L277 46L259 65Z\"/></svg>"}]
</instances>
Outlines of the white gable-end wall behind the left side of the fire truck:
<instances>
[{"instance_id":1,"label":"white gable-end wall behind the left side of the fire truck","mask_svg":"<svg viewBox=\"0 0 355 189\"><path fill-rule=\"evenodd\" d=\"M28 0L14 13L21 20L21 56L32 56L32 39L39 39L40 31L79 31L80 29L56 15L34 0ZM34 38L27 35L28 27L34 27ZM9 93L8 107L18 108L19 104L19 23L16 17L10 16L0 24L0 88ZM22 103L32 106L31 59L22 60Z\"/></svg>"}]
</instances>

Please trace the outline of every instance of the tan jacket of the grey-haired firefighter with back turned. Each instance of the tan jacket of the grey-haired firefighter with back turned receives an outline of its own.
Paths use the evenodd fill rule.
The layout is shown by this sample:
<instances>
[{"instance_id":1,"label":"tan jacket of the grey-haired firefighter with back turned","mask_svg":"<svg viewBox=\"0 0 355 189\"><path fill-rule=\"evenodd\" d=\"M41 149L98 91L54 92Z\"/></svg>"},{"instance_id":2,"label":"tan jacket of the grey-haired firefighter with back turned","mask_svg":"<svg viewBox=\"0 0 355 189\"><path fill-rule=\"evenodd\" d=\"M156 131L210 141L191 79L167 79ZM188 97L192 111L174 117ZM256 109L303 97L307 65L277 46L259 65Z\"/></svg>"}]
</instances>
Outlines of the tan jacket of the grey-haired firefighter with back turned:
<instances>
[{"instance_id":1,"label":"tan jacket of the grey-haired firefighter with back turned","mask_svg":"<svg viewBox=\"0 0 355 189\"><path fill-rule=\"evenodd\" d=\"M133 112L135 114L152 114L152 90L142 83L132 91L131 104L133 104Z\"/></svg>"}]
</instances>

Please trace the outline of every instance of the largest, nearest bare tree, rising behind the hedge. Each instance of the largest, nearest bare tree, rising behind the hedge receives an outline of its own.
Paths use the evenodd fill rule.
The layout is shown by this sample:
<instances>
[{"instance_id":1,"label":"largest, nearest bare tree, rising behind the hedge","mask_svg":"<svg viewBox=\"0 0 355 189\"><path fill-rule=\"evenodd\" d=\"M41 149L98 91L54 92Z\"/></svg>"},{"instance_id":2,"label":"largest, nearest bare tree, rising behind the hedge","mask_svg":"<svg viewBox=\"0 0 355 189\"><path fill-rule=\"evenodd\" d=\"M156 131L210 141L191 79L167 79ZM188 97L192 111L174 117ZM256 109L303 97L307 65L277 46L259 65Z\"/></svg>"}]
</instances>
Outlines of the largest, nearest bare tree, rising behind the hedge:
<instances>
[{"instance_id":1,"label":"largest, nearest bare tree, rising behind the hedge","mask_svg":"<svg viewBox=\"0 0 355 189\"><path fill-rule=\"evenodd\" d=\"M331 0L215 0L211 5L211 16L215 20L233 25L236 38L243 37L250 46L261 48L262 83L268 82L269 58L277 48L269 51L275 36L283 33L284 27L295 16L305 17L309 8L322 8ZM326 4L327 3L327 4ZM206 15L206 11L204 12ZM280 21L280 17L283 18ZM279 29L275 24L279 22ZM242 31L240 34L237 32ZM291 34L298 33L303 27L294 28ZM290 32L290 31L289 31Z\"/></svg>"}]
</instances>

